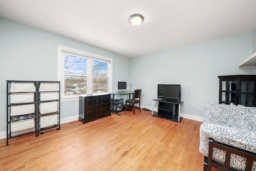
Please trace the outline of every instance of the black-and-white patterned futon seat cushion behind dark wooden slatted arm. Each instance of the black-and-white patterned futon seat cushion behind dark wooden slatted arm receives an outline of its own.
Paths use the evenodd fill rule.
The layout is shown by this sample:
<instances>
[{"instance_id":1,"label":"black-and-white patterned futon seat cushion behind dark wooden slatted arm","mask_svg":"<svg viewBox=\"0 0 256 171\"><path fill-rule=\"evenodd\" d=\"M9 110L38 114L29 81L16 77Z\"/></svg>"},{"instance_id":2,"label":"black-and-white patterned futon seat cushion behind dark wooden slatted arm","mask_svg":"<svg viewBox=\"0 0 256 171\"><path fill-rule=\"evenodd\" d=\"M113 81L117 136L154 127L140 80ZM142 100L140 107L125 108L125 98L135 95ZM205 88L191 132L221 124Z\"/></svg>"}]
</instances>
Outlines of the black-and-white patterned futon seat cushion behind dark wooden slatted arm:
<instances>
[{"instance_id":1,"label":"black-and-white patterned futon seat cushion behind dark wooden slatted arm","mask_svg":"<svg viewBox=\"0 0 256 171\"><path fill-rule=\"evenodd\" d=\"M256 153L256 134L252 131L235 129L232 127L226 127L223 125L216 125L211 123L202 123L202 125L200 126L199 151L206 157L208 157L209 138L212 138L220 143L224 143L233 147L238 147L240 149ZM225 155L225 151L214 148L212 159L224 164ZM244 169L245 163L246 159L232 154L230 167L236 169ZM254 169L255 167L256 163L254 162Z\"/></svg>"}]
</instances>

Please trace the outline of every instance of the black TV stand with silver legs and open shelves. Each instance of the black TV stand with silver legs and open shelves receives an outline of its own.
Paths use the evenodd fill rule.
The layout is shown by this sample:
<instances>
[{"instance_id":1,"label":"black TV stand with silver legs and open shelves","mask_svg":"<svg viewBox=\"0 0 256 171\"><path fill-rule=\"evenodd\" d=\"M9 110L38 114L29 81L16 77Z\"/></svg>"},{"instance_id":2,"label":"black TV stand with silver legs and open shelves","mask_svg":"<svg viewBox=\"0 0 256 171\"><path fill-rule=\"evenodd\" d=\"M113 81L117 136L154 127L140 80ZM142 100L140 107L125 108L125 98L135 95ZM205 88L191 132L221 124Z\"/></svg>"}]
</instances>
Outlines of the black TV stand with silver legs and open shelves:
<instances>
[{"instance_id":1,"label":"black TV stand with silver legs and open shelves","mask_svg":"<svg viewBox=\"0 0 256 171\"><path fill-rule=\"evenodd\" d=\"M158 101L158 112L154 113L154 103ZM168 119L170 121L176 121L180 123L182 117L180 117L180 104L183 101L179 100L167 100L167 99L154 99L152 116Z\"/></svg>"}]
</instances>

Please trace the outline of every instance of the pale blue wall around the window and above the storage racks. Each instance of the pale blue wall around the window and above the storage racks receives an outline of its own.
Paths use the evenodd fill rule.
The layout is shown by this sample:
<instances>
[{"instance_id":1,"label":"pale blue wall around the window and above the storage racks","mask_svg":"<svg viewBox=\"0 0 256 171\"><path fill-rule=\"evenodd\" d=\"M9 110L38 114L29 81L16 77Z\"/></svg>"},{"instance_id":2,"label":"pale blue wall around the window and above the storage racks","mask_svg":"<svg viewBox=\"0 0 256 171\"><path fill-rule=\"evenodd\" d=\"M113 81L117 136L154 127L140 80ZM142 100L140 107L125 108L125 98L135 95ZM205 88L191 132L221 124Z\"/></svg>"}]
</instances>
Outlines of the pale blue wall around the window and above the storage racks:
<instances>
[{"instance_id":1,"label":"pale blue wall around the window and above the storage racks","mask_svg":"<svg viewBox=\"0 0 256 171\"><path fill-rule=\"evenodd\" d=\"M58 45L113 58L114 91L118 81L130 82L130 58L0 17L0 132L6 131L6 80L57 81ZM60 106L61 118L78 115L78 101Z\"/></svg>"}]
</instances>

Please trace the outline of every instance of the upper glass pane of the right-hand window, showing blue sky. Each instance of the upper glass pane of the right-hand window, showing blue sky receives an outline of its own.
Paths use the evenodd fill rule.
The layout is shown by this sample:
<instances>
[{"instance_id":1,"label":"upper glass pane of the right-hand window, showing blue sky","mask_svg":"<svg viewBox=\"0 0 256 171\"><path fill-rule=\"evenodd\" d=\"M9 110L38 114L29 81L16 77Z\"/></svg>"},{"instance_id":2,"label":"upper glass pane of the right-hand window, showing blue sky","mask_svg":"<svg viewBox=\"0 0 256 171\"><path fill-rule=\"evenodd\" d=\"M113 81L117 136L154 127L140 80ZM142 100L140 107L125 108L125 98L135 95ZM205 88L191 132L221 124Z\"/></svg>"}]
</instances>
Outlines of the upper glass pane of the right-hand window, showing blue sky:
<instances>
[{"instance_id":1,"label":"upper glass pane of the right-hand window, showing blue sky","mask_svg":"<svg viewBox=\"0 0 256 171\"><path fill-rule=\"evenodd\" d=\"M108 63L92 60L92 76L108 76Z\"/></svg>"}]
</instances>

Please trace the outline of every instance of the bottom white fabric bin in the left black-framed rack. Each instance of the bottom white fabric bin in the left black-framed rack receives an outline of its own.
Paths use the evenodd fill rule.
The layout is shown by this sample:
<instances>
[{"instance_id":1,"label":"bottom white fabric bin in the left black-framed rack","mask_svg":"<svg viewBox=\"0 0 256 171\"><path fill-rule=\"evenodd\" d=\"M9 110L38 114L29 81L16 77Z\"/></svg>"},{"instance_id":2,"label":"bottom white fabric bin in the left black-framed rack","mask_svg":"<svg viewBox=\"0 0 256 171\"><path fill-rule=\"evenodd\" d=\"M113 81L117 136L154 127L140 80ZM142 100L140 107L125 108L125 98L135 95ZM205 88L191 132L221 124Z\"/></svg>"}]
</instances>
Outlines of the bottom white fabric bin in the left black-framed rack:
<instances>
[{"instance_id":1,"label":"bottom white fabric bin in the left black-framed rack","mask_svg":"<svg viewBox=\"0 0 256 171\"><path fill-rule=\"evenodd\" d=\"M26 120L20 120L11 122L11 130L13 131L20 131L23 129L28 129L35 127L35 120L34 119L26 119Z\"/></svg>"}]
</instances>

